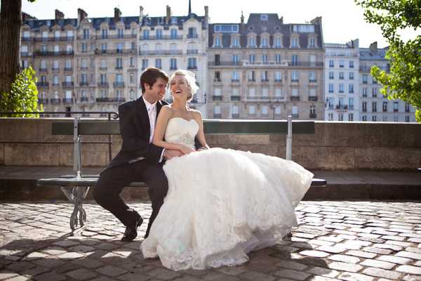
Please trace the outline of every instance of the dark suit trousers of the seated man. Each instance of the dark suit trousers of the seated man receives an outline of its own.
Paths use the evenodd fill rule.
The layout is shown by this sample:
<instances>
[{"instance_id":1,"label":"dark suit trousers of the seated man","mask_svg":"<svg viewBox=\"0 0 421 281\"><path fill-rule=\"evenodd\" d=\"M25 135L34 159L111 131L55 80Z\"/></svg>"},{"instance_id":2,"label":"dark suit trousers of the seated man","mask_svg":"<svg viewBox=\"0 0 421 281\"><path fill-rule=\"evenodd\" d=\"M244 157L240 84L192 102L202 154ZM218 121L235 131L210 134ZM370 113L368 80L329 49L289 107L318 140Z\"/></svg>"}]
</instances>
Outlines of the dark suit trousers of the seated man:
<instances>
[{"instance_id":1,"label":"dark suit trousers of the seated man","mask_svg":"<svg viewBox=\"0 0 421 281\"><path fill-rule=\"evenodd\" d=\"M127 206L121 199L120 193L125 186L135 181L143 181L147 184L152 202L152 215L145 235L147 237L168 191L168 180L163 172L162 164L151 164L146 160L140 160L131 164L109 167L100 174L93 198L101 207L114 214L124 226L128 226L138 218L139 214Z\"/></svg>"}]
</instances>

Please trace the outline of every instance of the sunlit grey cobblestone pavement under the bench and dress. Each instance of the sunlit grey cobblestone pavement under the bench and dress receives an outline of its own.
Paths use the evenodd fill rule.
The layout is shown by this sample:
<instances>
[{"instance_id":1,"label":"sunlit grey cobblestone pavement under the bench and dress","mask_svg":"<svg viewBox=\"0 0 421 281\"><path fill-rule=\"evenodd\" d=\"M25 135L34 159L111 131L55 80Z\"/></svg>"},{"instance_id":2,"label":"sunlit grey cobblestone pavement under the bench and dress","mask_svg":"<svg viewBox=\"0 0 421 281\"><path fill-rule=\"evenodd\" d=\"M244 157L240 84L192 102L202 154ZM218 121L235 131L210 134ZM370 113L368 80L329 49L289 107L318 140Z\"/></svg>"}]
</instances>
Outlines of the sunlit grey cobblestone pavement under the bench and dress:
<instances>
[{"instance_id":1,"label":"sunlit grey cobblestone pavement under the bench and dress","mask_svg":"<svg viewBox=\"0 0 421 281\"><path fill-rule=\"evenodd\" d=\"M293 237L251 253L245 266L171 271L143 259L142 233L85 204L88 225L69 236L72 205L0 202L0 280L421 280L421 202L301 202ZM131 207L144 218L148 202Z\"/></svg>"}]
</instances>

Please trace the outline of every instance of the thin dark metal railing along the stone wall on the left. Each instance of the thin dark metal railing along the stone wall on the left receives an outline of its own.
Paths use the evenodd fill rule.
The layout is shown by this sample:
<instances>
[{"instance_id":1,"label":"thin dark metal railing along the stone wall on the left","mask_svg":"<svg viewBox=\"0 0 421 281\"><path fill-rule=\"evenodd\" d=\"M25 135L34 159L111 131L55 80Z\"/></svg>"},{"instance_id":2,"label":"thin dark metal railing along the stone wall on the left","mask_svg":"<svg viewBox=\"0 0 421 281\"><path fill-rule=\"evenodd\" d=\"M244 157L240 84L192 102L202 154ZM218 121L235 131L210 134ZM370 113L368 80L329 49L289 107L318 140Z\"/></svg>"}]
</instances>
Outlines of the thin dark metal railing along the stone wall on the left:
<instances>
[{"instance_id":1,"label":"thin dark metal railing along the stone wall on the left","mask_svg":"<svg viewBox=\"0 0 421 281\"><path fill-rule=\"evenodd\" d=\"M19 112L0 112L0 118L4 117L5 115L10 115L11 117L15 117L13 115L65 115L65 117L72 117L72 115L81 115L82 117L91 114L98 114L98 115L107 115L107 119L119 119L119 114L114 111L44 111L44 112L31 112L31 111L19 111ZM79 118L79 117L74 117ZM74 144L74 141L0 141L1 143L11 143L11 144ZM112 160L112 138L111 135L108 135L108 141L84 141L83 143L86 144L107 144L108 145L108 159L109 162Z\"/></svg>"}]
</instances>

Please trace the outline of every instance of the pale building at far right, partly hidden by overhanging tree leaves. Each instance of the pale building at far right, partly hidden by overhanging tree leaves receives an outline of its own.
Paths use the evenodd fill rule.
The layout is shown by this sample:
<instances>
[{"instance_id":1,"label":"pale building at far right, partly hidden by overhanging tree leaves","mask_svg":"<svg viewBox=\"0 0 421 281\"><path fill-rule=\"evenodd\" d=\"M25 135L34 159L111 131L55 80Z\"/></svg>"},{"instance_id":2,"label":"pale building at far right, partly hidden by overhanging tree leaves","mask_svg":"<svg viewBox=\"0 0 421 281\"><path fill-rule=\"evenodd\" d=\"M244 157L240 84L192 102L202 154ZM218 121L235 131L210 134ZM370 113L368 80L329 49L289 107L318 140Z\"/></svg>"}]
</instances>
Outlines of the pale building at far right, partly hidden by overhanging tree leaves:
<instances>
[{"instance_id":1,"label":"pale building at far right, partly hidden by overhanging tree leaves","mask_svg":"<svg viewBox=\"0 0 421 281\"><path fill-rule=\"evenodd\" d=\"M377 42L369 48L360 48L359 65L359 121L370 122L415 122L415 108L403 100L385 98L378 84L370 74L373 65L389 71L389 61L385 58L387 48L377 48Z\"/></svg>"}]
</instances>

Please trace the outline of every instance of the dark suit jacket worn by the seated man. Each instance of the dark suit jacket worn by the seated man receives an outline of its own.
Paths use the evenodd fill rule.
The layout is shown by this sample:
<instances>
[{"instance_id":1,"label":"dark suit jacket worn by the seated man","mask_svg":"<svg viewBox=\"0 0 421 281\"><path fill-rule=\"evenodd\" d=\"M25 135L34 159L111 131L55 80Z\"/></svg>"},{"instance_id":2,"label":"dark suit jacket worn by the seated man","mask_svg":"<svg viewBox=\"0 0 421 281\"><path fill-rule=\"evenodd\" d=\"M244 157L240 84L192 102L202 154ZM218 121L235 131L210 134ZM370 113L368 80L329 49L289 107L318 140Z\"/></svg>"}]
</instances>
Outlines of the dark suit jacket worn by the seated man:
<instances>
[{"instance_id":1,"label":"dark suit jacket worn by the seated man","mask_svg":"<svg viewBox=\"0 0 421 281\"><path fill-rule=\"evenodd\" d=\"M158 100L156 103L156 116L163 105L167 103ZM123 138L120 152L107 166L119 166L131 159L145 157L147 162L157 164L161 158L163 148L149 143L150 124L149 116L143 98L123 103L119 106L120 133Z\"/></svg>"}]
</instances>

